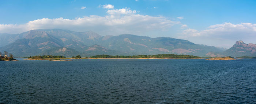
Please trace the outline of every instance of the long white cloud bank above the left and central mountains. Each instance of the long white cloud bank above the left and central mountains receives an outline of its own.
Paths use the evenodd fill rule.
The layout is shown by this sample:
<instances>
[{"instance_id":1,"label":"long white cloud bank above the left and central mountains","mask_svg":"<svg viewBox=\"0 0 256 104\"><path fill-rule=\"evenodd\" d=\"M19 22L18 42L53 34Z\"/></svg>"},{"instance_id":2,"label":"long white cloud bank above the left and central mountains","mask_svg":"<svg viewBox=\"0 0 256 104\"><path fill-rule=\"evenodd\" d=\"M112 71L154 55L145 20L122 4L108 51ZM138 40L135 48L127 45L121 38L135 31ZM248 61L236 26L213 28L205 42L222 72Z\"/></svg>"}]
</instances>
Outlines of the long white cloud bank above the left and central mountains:
<instances>
[{"instance_id":1,"label":"long white cloud bank above the left and central mountains","mask_svg":"<svg viewBox=\"0 0 256 104\"><path fill-rule=\"evenodd\" d=\"M69 29L71 31L95 31L100 35L131 33L143 35L152 31L167 31L173 25L181 24L163 16L137 14L129 8L111 9L105 16L84 16L76 19L38 19L26 24L0 24L0 33L21 33L31 29Z\"/></svg>"}]
</instances>

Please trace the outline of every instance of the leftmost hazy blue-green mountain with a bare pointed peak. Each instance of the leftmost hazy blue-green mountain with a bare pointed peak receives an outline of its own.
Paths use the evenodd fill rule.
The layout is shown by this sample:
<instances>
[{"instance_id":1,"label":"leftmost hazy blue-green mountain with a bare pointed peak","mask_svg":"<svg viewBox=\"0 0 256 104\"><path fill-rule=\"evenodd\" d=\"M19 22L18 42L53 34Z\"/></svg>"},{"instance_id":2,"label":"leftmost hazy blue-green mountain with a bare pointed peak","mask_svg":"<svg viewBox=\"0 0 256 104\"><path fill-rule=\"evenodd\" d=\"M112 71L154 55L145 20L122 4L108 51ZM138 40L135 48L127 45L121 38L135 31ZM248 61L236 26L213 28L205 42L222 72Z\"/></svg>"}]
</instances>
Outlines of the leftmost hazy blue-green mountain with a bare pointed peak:
<instances>
[{"instance_id":1,"label":"leftmost hazy blue-green mountain with a bare pointed peak","mask_svg":"<svg viewBox=\"0 0 256 104\"><path fill-rule=\"evenodd\" d=\"M44 31L29 31L25 38L1 47L0 51L8 51L15 56L33 56L47 49L61 47L61 45L59 39Z\"/></svg>"}]
</instances>

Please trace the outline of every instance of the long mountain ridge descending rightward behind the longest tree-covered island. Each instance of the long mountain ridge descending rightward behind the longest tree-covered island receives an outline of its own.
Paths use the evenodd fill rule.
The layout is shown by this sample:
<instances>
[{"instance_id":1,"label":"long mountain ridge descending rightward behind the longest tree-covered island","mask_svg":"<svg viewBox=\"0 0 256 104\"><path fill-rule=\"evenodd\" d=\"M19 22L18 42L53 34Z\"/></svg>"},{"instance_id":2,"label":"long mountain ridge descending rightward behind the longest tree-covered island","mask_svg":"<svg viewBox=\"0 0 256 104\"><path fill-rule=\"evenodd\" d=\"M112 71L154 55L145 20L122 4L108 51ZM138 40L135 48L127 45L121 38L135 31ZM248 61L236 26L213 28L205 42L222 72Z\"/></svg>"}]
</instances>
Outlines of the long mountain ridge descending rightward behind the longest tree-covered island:
<instances>
[{"instance_id":1,"label":"long mountain ridge descending rightward behind the longest tree-covered island","mask_svg":"<svg viewBox=\"0 0 256 104\"><path fill-rule=\"evenodd\" d=\"M221 52L221 49L207 45L191 43L187 40L174 39L170 37L151 38L147 36L119 35L102 38L99 45L109 49L135 53L135 55L155 55L155 54L184 54L204 56L210 51Z\"/></svg>"}]
</instances>

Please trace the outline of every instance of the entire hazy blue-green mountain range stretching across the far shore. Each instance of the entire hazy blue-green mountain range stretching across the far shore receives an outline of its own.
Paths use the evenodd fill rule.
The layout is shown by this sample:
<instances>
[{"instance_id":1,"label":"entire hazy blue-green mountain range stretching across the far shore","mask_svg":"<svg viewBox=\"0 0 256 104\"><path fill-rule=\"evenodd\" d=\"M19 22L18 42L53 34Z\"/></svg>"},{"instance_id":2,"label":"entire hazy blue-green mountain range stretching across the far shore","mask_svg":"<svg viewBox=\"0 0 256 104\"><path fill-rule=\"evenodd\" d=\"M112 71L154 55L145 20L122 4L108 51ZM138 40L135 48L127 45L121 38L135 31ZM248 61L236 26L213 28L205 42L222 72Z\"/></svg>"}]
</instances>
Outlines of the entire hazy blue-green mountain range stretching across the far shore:
<instances>
[{"instance_id":1,"label":"entire hazy blue-green mountain range stretching across the far shore","mask_svg":"<svg viewBox=\"0 0 256 104\"><path fill-rule=\"evenodd\" d=\"M253 56L256 44L238 41L230 49L194 44L170 37L151 38L122 34L101 36L93 31L37 29L20 34L0 34L0 52L15 57L34 55L93 56L183 54L195 56Z\"/></svg>"}]
</instances>

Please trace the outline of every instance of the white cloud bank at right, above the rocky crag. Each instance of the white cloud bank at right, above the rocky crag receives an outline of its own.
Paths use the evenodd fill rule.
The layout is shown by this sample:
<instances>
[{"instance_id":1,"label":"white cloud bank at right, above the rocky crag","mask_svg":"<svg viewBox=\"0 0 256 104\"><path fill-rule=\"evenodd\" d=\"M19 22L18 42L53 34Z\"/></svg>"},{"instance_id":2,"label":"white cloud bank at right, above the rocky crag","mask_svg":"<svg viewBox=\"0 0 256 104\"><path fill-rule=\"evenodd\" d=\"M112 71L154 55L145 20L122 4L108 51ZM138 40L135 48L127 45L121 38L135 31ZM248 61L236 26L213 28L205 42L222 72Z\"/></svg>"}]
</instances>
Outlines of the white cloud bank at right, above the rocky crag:
<instances>
[{"instance_id":1,"label":"white cloud bank at right, above the rocky crag","mask_svg":"<svg viewBox=\"0 0 256 104\"><path fill-rule=\"evenodd\" d=\"M204 41L204 44L230 48L238 40L247 41L248 43L255 43L256 24L223 23L211 25L202 31L189 28L184 30L179 38L188 40L191 39L198 42Z\"/></svg>"}]
</instances>

